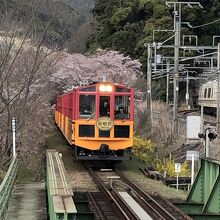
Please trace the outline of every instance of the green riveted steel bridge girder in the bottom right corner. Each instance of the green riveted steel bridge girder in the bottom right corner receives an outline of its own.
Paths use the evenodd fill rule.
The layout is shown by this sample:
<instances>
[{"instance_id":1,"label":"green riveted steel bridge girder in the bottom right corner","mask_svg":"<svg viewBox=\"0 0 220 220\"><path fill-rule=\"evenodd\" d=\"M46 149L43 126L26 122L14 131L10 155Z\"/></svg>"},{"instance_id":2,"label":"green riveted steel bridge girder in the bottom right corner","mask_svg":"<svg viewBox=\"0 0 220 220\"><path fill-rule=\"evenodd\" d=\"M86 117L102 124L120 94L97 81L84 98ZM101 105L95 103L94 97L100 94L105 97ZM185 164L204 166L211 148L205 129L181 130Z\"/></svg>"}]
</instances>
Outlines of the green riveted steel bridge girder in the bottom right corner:
<instances>
[{"instance_id":1,"label":"green riveted steel bridge girder in the bottom right corner","mask_svg":"<svg viewBox=\"0 0 220 220\"><path fill-rule=\"evenodd\" d=\"M220 162L201 159L188 198L176 205L193 219L220 219Z\"/></svg>"}]
</instances>

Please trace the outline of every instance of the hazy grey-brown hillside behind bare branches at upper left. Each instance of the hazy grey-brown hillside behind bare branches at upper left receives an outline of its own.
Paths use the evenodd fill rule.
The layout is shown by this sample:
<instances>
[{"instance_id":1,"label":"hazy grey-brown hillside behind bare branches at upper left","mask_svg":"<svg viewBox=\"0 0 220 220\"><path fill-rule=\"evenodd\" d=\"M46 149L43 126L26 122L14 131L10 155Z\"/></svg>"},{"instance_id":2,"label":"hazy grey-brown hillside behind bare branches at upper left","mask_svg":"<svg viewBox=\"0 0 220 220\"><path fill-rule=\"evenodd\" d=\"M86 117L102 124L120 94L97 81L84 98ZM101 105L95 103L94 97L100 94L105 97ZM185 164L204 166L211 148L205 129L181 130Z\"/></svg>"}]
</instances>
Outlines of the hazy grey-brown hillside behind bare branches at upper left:
<instances>
[{"instance_id":1,"label":"hazy grey-brown hillside behind bare branches at upper left","mask_svg":"<svg viewBox=\"0 0 220 220\"><path fill-rule=\"evenodd\" d=\"M53 45L65 47L71 51L83 50L86 38L81 39L80 48L73 48L72 42L77 39L78 32L85 29L88 32L88 22L91 20L91 10L93 0L7 0L0 1L0 11L12 14L15 19L28 24L30 19L34 28L32 36L40 36L45 26L48 26L44 35L44 44L48 45L53 41ZM32 14L31 14L32 13Z\"/></svg>"}]
</instances>

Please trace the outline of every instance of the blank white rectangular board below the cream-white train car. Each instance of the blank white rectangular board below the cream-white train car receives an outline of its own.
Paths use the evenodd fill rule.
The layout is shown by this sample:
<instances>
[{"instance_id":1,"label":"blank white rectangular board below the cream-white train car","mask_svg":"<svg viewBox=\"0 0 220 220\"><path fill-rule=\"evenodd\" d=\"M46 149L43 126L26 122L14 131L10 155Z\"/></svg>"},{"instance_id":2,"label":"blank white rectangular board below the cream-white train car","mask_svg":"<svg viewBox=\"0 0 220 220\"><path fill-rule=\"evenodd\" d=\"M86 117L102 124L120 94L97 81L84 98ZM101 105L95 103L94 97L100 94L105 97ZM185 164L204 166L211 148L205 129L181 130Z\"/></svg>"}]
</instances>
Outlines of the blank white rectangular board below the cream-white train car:
<instances>
[{"instance_id":1,"label":"blank white rectangular board below the cream-white train car","mask_svg":"<svg viewBox=\"0 0 220 220\"><path fill-rule=\"evenodd\" d=\"M201 128L201 116L187 116L186 136L188 139L199 139L198 133Z\"/></svg>"}]
</instances>

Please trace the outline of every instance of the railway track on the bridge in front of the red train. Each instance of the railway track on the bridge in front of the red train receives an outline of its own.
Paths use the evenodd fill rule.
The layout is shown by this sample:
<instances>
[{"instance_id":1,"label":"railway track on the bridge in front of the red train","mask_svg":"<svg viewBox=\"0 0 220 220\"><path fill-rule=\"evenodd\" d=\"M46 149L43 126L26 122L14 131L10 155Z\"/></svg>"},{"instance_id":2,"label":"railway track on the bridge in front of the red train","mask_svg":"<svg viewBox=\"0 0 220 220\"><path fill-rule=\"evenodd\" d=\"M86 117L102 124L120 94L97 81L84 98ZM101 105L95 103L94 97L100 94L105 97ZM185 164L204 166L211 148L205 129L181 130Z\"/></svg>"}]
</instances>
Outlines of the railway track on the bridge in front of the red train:
<instances>
[{"instance_id":1,"label":"railway track on the bridge in front of the red train","mask_svg":"<svg viewBox=\"0 0 220 220\"><path fill-rule=\"evenodd\" d=\"M119 170L87 169L103 193L88 195L97 219L191 219L166 199L143 192Z\"/></svg>"}]
</instances>

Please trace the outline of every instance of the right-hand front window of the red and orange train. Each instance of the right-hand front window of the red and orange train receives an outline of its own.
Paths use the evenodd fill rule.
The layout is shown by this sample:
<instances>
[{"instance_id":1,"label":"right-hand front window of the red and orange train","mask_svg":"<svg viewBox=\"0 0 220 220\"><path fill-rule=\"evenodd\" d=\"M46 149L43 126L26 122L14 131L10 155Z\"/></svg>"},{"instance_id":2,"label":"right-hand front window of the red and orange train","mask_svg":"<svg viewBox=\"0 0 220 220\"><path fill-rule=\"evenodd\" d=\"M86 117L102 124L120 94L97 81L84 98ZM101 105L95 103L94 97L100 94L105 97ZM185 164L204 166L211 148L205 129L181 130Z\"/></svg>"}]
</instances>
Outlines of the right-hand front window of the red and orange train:
<instances>
[{"instance_id":1,"label":"right-hand front window of the red and orange train","mask_svg":"<svg viewBox=\"0 0 220 220\"><path fill-rule=\"evenodd\" d=\"M130 96L115 96L115 119L130 118Z\"/></svg>"}]
</instances>

